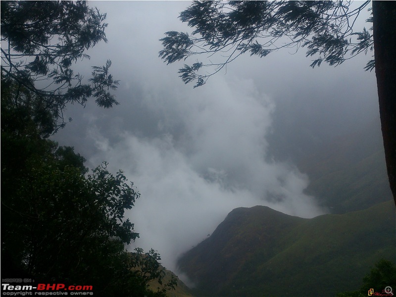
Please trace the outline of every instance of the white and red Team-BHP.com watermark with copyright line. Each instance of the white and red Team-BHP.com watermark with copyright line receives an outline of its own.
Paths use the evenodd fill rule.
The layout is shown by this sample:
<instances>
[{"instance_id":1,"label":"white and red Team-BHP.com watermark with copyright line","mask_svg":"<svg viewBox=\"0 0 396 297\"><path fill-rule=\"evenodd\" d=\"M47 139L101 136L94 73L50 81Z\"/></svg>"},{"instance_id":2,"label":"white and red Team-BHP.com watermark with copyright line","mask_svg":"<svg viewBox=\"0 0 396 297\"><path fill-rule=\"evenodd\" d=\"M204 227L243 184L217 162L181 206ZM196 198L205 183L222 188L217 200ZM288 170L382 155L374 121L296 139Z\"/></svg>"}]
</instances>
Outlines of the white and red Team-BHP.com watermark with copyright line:
<instances>
[{"instance_id":1,"label":"white and red Team-BHP.com watermark with copyright line","mask_svg":"<svg viewBox=\"0 0 396 297\"><path fill-rule=\"evenodd\" d=\"M91 285L36 282L33 279L1 279L1 296L93 296Z\"/></svg>"}]
</instances>

